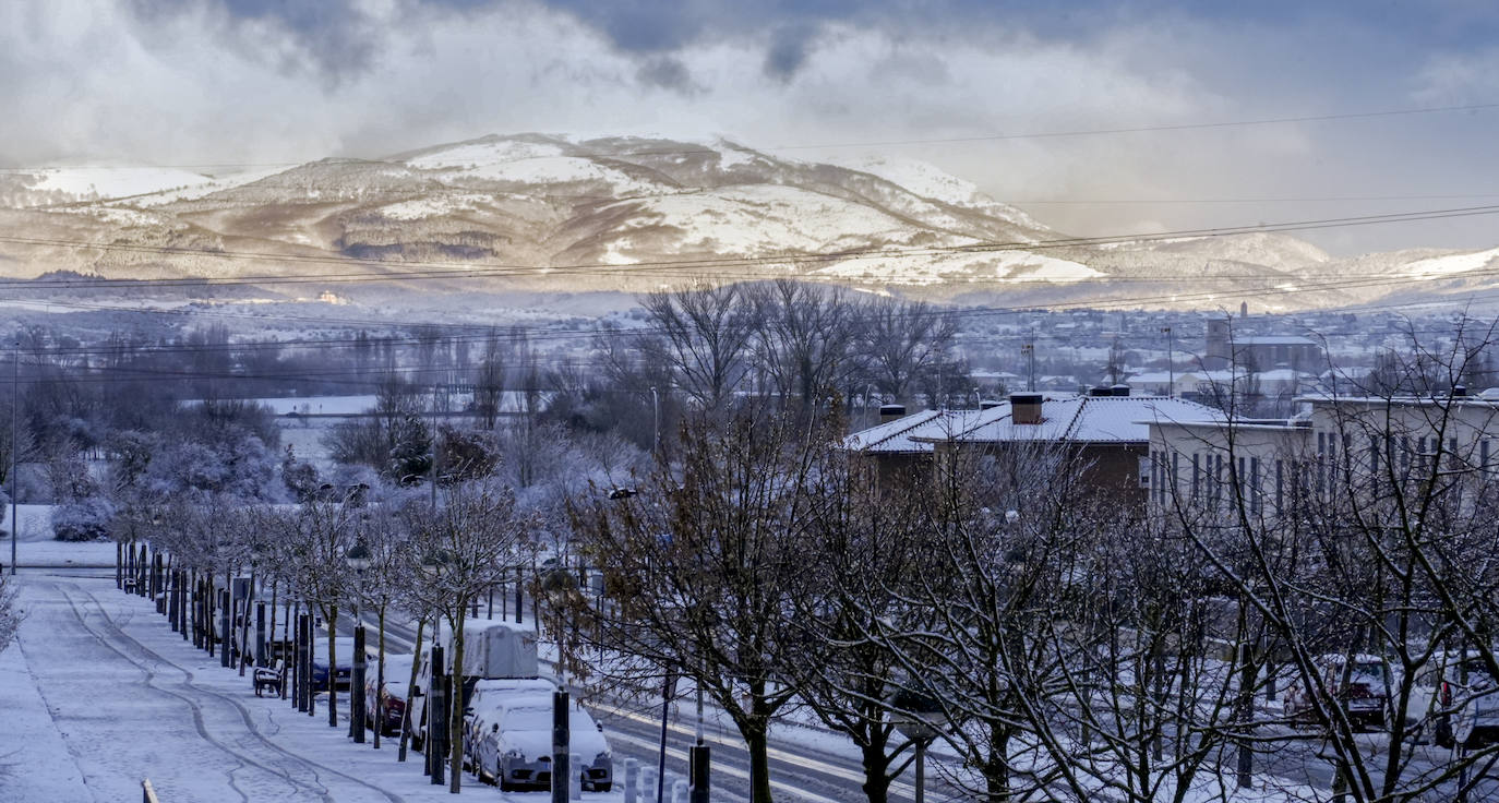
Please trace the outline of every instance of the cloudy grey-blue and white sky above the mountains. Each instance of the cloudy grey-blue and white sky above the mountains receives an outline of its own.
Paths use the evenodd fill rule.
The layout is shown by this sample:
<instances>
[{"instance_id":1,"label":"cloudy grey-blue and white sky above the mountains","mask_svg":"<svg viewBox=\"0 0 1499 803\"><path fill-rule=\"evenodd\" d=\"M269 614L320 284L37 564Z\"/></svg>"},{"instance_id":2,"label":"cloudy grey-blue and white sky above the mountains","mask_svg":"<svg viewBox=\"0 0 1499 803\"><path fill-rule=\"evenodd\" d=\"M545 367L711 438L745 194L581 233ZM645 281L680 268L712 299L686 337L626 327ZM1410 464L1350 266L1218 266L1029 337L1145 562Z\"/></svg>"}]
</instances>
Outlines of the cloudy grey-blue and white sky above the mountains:
<instances>
[{"instance_id":1,"label":"cloudy grey-blue and white sky above the mountains","mask_svg":"<svg viewBox=\"0 0 1499 803\"><path fill-rule=\"evenodd\" d=\"M0 166L225 172L486 133L724 136L925 159L1099 235L1499 204L1499 106L1076 132L1489 103L1489 0L0 4ZM1484 247L1499 216L1307 237Z\"/></svg>"}]
</instances>

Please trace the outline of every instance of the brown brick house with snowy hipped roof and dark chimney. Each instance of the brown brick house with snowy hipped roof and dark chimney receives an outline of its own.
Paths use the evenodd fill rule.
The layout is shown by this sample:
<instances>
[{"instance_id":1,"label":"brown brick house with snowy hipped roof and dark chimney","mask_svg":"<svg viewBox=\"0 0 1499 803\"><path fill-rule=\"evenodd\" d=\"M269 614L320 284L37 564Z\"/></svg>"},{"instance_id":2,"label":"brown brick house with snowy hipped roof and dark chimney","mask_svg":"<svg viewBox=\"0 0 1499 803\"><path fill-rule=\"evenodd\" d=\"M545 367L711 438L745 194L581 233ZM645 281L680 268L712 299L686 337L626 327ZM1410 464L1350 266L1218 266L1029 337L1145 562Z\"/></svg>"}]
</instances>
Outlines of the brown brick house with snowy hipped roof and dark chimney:
<instances>
[{"instance_id":1,"label":"brown brick house with snowy hipped roof and dark chimney","mask_svg":"<svg viewBox=\"0 0 1499 803\"><path fill-rule=\"evenodd\" d=\"M907 484L929 476L956 449L995 454L1015 445L1051 443L1067 449L1099 493L1144 505L1141 464L1148 455L1151 421L1195 421L1214 410L1183 399L1133 396L1129 387L1087 396L1013 393L977 410L923 410L892 416L850 434L844 445L875 461L881 482Z\"/></svg>"}]
</instances>

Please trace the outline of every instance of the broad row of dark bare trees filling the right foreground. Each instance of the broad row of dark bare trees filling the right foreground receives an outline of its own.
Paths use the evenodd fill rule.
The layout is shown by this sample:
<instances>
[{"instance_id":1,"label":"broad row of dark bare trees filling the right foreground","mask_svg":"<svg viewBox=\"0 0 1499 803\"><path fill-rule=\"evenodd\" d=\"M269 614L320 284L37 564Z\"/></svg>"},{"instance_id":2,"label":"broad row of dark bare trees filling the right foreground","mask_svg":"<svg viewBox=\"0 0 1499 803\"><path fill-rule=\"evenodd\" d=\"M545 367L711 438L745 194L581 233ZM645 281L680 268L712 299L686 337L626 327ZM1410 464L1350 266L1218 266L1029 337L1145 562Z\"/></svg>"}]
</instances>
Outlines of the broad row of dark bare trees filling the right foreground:
<instances>
[{"instance_id":1,"label":"broad row of dark bare trees filling the right foreground","mask_svg":"<svg viewBox=\"0 0 1499 803\"><path fill-rule=\"evenodd\" d=\"M983 800L1493 799L1499 746L1432 740L1499 697L1499 427L1451 393L1334 409L1336 449L1274 481L1229 425L1211 506L1183 479L1139 508L1064 445L938 445L896 476L842 449L836 415L741 403L684 424L640 493L574 506L610 601L574 614L604 683L681 673L723 710L757 803L794 712L847 734L886 800L901 692L941 712L946 781ZM1385 667L1373 722L1361 661Z\"/></svg>"}]
</instances>

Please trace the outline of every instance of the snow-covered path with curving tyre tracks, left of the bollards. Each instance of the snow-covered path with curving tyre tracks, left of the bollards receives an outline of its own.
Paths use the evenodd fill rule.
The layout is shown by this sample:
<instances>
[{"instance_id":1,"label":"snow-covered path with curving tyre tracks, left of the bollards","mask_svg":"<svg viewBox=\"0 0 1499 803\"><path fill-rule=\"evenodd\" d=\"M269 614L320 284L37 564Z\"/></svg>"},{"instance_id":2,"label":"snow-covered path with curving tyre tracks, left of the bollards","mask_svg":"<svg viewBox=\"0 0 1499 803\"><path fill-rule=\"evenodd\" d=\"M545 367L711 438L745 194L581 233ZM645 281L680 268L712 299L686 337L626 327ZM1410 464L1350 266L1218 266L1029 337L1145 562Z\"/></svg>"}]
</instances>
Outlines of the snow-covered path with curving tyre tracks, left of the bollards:
<instances>
[{"instance_id":1,"label":"snow-covered path with curving tyre tracks, left of the bollards","mask_svg":"<svg viewBox=\"0 0 1499 803\"><path fill-rule=\"evenodd\" d=\"M163 803L451 800L394 749L256 698L112 578L22 577L27 619L0 656L0 800L138 800L144 778Z\"/></svg>"}]
</instances>

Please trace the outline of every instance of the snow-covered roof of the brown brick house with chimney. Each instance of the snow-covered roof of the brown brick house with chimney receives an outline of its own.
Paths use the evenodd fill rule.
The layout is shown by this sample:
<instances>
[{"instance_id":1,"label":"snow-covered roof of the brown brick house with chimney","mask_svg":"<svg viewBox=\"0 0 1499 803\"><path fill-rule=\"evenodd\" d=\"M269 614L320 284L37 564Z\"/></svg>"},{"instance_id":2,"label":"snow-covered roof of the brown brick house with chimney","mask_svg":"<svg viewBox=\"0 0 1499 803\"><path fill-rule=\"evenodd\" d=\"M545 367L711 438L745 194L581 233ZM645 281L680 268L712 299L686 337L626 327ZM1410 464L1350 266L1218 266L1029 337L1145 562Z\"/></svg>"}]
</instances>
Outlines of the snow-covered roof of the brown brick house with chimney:
<instances>
[{"instance_id":1,"label":"snow-covered roof of the brown brick house with chimney","mask_svg":"<svg viewBox=\"0 0 1499 803\"><path fill-rule=\"evenodd\" d=\"M1219 410L1160 396L1042 394L1042 421L1016 424L1010 403L986 410L925 410L848 436L850 448L878 452L929 452L937 442L1145 443L1153 421L1201 421Z\"/></svg>"}]
</instances>

